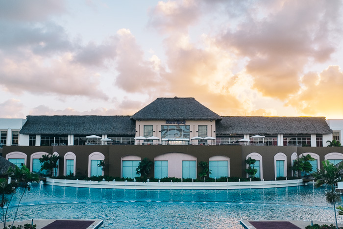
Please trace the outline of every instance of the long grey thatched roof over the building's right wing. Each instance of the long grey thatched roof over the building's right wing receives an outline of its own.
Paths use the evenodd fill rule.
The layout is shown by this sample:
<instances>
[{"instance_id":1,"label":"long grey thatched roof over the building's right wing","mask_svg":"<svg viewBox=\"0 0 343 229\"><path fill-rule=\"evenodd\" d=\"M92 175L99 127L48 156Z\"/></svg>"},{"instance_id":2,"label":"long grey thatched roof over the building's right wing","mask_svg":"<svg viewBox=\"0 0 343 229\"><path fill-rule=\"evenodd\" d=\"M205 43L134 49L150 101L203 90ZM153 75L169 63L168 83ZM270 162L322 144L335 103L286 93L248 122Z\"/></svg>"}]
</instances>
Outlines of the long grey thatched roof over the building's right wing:
<instances>
[{"instance_id":1,"label":"long grey thatched roof over the building's right wing","mask_svg":"<svg viewBox=\"0 0 343 229\"><path fill-rule=\"evenodd\" d=\"M229 134L329 134L325 117L234 117L216 123L216 135Z\"/></svg>"}]
</instances>

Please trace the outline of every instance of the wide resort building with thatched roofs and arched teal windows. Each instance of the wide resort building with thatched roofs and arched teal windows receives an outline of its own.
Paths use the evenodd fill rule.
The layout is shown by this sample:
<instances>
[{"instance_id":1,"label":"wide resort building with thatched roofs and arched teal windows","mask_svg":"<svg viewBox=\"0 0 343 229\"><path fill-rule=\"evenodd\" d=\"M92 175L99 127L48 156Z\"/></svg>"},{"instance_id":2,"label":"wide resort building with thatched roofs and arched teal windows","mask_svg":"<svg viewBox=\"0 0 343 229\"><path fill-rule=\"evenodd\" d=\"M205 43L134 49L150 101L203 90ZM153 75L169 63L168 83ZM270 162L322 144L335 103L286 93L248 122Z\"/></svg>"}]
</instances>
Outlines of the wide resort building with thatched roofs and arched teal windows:
<instances>
[{"instance_id":1,"label":"wide resort building with thatched roofs and arched teal windows","mask_svg":"<svg viewBox=\"0 0 343 229\"><path fill-rule=\"evenodd\" d=\"M145 157L154 162L155 178L197 178L200 161L209 163L212 178L245 177L245 159L252 157L256 176L265 180L292 176L293 161L304 154L315 158L313 170L324 159L343 160L343 148L326 147L327 141L342 141L339 120L220 116L194 98L157 98L131 116L11 121L0 119L2 156L33 172L39 172L43 154L60 156L59 175L124 178L136 177Z\"/></svg>"}]
</instances>

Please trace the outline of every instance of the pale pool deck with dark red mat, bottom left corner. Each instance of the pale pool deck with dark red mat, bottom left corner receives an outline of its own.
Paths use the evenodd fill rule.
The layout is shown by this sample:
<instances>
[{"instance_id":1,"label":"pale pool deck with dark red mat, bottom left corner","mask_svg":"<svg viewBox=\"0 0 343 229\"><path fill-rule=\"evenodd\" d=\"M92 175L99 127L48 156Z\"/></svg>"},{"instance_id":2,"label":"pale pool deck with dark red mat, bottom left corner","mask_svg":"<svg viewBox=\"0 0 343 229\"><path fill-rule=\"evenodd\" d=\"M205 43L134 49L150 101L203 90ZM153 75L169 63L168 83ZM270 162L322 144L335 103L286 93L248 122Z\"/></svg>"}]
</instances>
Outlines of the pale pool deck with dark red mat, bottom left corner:
<instances>
[{"instance_id":1,"label":"pale pool deck with dark red mat, bottom left corner","mask_svg":"<svg viewBox=\"0 0 343 229\"><path fill-rule=\"evenodd\" d=\"M10 224L12 222L8 222ZM14 222L15 226L31 224L32 220L23 220ZM103 220L96 219L42 219L33 220L37 229L97 229Z\"/></svg>"}]
</instances>

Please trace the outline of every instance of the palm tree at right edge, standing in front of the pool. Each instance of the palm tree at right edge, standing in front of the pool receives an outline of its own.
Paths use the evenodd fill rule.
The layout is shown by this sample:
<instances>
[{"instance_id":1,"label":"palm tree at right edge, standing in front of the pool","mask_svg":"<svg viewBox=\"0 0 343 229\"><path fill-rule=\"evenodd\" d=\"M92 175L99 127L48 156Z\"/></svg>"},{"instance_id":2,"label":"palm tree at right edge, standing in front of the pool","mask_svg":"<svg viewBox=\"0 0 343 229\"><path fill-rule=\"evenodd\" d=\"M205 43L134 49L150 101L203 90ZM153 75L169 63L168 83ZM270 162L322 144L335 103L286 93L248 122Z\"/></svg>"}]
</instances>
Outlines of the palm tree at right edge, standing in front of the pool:
<instances>
[{"instance_id":1,"label":"palm tree at right edge, standing in front of the pool","mask_svg":"<svg viewBox=\"0 0 343 229\"><path fill-rule=\"evenodd\" d=\"M326 202L333 204L334 211L335 211L335 221L336 221L336 228L338 228L337 224L337 216L336 216L336 203L342 202L341 194L335 191L336 183L342 180L343 177L343 163L339 163L338 165L334 165L328 160L324 160L321 162L323 164L323 168L318 170L316 173L313 173L313 176L316 180L316 187L320 187L323 184L327 184L331 189L329 189L326 193Z\"/></svg>"}]
</instances>

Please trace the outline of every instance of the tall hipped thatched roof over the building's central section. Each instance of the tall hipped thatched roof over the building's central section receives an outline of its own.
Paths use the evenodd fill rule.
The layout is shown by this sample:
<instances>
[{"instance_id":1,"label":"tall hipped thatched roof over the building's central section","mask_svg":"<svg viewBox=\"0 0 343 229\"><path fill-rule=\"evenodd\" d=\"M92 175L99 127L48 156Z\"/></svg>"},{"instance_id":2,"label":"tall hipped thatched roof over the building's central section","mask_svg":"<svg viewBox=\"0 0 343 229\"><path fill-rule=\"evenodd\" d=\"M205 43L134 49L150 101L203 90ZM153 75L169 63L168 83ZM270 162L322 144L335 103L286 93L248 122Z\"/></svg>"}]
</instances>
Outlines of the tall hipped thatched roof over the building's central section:
<instances>
[{"instance_id":1,"label":"tall hipped thatched roof over the building's central section","mask_svg":"<svg viewBox=\"0 0 343 229\"><path fill-rule=\"evenodd\" d=\"M132 117L134 120L218 120L214 113L194 98L157 98Z\"/></svg>"}]
</instances>

